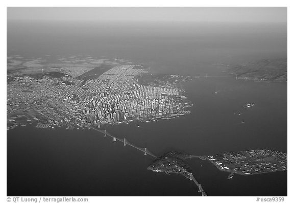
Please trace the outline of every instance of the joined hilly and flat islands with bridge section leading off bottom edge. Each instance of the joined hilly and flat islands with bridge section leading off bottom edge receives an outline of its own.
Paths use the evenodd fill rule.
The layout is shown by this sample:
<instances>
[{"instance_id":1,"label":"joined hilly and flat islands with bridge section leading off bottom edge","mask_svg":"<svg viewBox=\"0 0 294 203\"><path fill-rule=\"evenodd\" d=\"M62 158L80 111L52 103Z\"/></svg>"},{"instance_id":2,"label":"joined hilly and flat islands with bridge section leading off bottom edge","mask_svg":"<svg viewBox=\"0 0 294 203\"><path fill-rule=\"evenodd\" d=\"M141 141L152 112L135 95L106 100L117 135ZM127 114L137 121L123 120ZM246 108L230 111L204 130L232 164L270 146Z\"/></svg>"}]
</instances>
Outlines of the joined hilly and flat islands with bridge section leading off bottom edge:
<instances>
[{"instance_id":1,"label":"joined hilly and flat islands with bridge section leading off bottom edge","mask_svg":"<svg viewBox=\"0 0 294 203\"><path fill-rule=\"evenodd\" d=\"M194 178L191 167L185 162L192 158L208 160L220 171L229 172L228 179L231 179L234 174L254 175L287 170L287 153L267 149L202 156L171 151L158 157L148 170L165 174L181 174L193 181L198 186L199 192L206 196L202 186Z\"/></svg>"}]
</instances>

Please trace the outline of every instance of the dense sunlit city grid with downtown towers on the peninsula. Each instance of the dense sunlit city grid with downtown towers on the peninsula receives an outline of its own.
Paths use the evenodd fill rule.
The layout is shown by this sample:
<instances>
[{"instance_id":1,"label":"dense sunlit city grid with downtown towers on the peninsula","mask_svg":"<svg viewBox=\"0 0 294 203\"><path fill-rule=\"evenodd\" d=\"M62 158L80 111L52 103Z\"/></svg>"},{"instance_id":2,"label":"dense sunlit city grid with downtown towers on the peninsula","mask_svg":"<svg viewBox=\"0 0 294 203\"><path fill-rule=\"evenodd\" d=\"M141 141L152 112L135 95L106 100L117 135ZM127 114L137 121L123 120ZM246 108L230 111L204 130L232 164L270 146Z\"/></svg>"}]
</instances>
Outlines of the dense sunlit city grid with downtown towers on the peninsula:
<instances>
[{"instance_id":1,"label":"dense sunlit city grid with downtown towers on the peninsula","mask_svg":"<svg viewBox=\"0 0 294 203\"><path fill-rule=\"evenodd\" d=\"M147 71L135 65L114 66L96 79L80 79L67 70L61 77L14 76L7 84L10 121L18 114L50 124L95 125L189 113L184 89L168 82L140 84L136 76Z\"/></svg>"}]
</instances>

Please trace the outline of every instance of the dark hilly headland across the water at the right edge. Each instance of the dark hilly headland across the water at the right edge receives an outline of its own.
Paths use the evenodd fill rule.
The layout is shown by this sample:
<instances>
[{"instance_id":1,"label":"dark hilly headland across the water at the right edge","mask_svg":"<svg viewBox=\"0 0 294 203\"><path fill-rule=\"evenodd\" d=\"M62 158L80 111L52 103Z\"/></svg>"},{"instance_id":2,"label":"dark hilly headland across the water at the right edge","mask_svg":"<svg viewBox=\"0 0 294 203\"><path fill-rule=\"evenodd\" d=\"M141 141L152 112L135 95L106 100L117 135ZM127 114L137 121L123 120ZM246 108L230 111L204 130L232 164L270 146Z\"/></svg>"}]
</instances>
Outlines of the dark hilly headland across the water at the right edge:
<instances>
[{"instance_id":1,"label":"dark hilly headland across the water at the right edge","mask_svg":"<svg viewBox=\"0 0 294 203\"><path fill-rule=\"evenodd\" d=\"M284 82L287 81L287 58L254 61L230 67L227 72L237 74L238 79Z\"/></svg>"}]
</instances>

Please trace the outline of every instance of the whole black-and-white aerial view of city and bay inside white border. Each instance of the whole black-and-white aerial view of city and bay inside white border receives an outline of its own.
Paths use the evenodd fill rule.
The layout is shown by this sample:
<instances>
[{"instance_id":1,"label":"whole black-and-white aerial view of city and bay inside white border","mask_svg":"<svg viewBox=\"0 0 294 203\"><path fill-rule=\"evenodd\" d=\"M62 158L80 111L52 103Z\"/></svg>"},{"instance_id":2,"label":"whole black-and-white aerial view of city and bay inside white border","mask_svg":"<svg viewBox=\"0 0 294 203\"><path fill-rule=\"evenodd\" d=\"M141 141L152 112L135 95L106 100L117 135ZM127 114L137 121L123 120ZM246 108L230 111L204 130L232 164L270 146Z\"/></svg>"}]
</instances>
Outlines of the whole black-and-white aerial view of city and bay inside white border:
<instances>
[{"instance_id":1,"label":"whole black-and-white aerial view of city and bay inside white border","mask_svg":"<svg viewBox=\"0 0 294 203\"><path fill-rule=\"evenodd\" d=\"M7 196L288 195L286 7L75 9L7 7Z\"/></svg>"}]
</instances>

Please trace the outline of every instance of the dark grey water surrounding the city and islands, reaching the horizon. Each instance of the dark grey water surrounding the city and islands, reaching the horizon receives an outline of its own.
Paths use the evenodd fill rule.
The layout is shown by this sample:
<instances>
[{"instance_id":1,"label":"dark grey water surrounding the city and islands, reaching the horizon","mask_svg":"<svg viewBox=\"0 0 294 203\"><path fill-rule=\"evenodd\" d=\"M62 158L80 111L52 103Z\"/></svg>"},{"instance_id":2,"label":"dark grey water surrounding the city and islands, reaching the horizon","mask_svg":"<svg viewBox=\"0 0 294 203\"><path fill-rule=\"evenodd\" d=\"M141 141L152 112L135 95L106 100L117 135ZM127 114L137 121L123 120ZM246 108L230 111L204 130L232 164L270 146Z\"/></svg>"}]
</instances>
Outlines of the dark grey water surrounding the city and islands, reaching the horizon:
<instances>
[{"instance_id":1,"label":"dark grey water surrounding the city and islands, reaching the horizon","mask_svg":"<svg viewBox=\"0 0 294 203\"><path fill-rule=\"evenodd\" d=\"M78 54L120 57L169 74L228 76L215 64L287 54L287 27L279 24L8 21L7 26L8 55L51 55L53 61ZM287 83L211 77L185 82L184 87L194 104L191 114L105 128L156 155L170 150L195 155L287 152ZM244 109L246 103L255 106ZM97 131L19 127L7 131L7 195L199 195L184 176L146 170L152 161ZM287 172L227 179L228 173L208 162L188 163L209 196L287 195Z\"/></svg>"}]
</instances>

